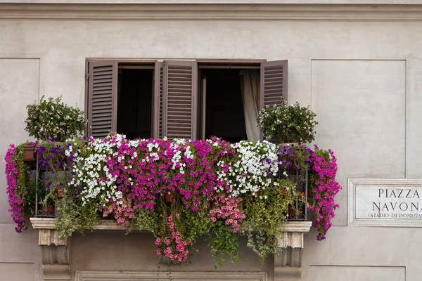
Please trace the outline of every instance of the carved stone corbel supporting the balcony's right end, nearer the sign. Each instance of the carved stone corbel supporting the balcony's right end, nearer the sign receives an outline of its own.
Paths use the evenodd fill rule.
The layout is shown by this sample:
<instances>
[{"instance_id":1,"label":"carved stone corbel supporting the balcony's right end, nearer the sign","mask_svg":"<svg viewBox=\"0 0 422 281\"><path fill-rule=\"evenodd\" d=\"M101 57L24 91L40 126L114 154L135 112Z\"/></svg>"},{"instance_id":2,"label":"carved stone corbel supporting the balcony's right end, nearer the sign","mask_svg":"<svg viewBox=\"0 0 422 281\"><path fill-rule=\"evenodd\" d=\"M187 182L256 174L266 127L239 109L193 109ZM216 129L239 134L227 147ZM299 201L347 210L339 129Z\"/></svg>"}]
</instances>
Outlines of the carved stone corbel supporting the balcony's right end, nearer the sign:
<instances>
[{"instance_id":1,"label":"carved stone corbel supporting the balcony's right end, nearer the sign","mask_svg":"<svg viewBox=\"0 0 422 281\"><path fill-rule=\"evenodd\" d=\"M274 256L274 281L300 281L303 235L311 229L312 221L290 221L279 237L281 253Z\"/></svg>"}]
</instances>

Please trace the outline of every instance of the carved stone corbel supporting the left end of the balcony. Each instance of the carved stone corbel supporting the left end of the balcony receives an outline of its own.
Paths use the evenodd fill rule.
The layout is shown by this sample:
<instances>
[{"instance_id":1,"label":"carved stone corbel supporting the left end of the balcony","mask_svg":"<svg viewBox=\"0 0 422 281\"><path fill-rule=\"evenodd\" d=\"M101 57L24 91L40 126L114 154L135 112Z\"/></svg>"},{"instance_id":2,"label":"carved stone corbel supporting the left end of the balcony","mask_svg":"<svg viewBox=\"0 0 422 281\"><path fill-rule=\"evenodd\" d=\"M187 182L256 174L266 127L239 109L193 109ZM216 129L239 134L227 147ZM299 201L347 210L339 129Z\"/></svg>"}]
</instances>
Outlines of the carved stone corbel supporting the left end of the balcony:
<instances>
[{"instance_id":1,"label":"carved stone corbel supporting the left end of the balcony","mask_svg":"<svg viewBox=\"0 0 422 281\"><path fill-rule=\"evenodd\" d=\"M31 223L34 229L39 230L44 280L70 280L70 238L58 237L54 219L31 218Z\"/></svg>"}]
</instances>

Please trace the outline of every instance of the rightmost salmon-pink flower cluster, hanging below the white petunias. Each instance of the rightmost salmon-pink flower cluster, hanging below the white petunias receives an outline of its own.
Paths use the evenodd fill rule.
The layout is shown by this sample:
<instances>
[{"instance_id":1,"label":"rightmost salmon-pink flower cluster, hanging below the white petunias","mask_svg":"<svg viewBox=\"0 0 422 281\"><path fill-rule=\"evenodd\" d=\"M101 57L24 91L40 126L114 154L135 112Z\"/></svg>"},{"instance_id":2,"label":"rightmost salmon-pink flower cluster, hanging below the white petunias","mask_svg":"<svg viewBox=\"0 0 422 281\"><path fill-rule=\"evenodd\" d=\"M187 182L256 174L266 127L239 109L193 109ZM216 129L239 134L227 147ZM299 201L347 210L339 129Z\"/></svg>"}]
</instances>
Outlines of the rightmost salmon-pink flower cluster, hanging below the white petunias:
<instances>
[{"instance_id":1,"label":"rightmost salmon-pink flower cluster, hanging below the white petunias","mask_svg":"<svg viewBox=\"0 0 422 281\"><path fill-rule=\"evenodd\" d=\"M210 210L211 221L215 223L218 218L222 218L225 220L226 226L230 226L231 232L236 233L242 221L246 218L244 211L238 207L242 201L242 198L222 195L214 203L215 208Z\"/></svg>"}]
</instances>

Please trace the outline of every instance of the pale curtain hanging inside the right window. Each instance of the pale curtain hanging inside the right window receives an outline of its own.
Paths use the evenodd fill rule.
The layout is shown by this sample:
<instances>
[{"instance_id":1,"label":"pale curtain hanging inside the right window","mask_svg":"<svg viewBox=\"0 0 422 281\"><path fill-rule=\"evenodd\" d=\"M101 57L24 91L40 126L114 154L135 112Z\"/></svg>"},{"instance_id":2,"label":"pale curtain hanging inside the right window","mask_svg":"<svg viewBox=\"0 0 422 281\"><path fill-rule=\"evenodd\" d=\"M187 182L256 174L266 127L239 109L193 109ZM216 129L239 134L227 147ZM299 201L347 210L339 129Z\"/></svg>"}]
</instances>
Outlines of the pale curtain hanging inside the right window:
<instances>
[{"instance_id":1,"label":"pale curtain hanging inside the right window","mask_svg":"<svg viewBox=\"0 0 422 281\"><path fill-rule=\"evenodd\" d=\"M259 141L260 129L257 127L258 108L260 105L259 70L241 71L241 89L243 111L245 112L246 135L249 141Z\"/></svg>"}]
</instances>

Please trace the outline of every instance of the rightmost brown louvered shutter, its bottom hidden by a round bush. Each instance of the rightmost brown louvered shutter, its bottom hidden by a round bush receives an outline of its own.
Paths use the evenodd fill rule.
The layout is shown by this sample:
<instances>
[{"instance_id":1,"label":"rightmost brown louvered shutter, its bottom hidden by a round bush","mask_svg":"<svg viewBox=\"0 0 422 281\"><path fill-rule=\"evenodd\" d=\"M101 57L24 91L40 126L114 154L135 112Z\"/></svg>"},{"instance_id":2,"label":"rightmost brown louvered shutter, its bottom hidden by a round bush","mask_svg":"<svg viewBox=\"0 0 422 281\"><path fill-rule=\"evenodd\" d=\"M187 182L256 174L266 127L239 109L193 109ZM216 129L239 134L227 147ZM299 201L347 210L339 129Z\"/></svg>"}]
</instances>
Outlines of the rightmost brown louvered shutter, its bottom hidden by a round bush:
<instances>
[{"instance_id":1,"label":"rightmost brown louvered shutter, its bottom hidden by a round bush","mask_svg":"<svg viewBox=\"0 0 422 281\"><path fill-rule=\"evenodd\" d=\"M260 108L280 105L281 97L287 101L287 60L261 63Z\"/></svg>"}]
</instances>

